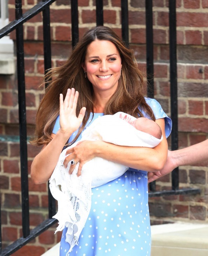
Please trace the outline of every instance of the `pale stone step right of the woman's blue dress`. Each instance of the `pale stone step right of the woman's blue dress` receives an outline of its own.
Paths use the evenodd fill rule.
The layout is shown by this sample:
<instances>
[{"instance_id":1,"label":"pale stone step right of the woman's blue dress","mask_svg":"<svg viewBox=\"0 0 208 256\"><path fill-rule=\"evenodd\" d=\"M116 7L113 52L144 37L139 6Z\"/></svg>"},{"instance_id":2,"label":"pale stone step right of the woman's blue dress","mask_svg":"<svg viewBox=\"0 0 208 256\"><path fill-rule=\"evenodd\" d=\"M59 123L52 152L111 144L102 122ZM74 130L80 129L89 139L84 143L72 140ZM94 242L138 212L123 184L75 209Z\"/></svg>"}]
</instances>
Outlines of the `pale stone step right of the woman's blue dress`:
<instances>
[{"instance_id":1,"label":"pale stone step right of the woman's blue dress","mask_svg":"<svg viewBox=\"0 0 208 256\"><path fill-rule=\"evenodd\" d=\"M208 256L208 224L153 225L151 256Z\"/></svg>"}]
</instances>

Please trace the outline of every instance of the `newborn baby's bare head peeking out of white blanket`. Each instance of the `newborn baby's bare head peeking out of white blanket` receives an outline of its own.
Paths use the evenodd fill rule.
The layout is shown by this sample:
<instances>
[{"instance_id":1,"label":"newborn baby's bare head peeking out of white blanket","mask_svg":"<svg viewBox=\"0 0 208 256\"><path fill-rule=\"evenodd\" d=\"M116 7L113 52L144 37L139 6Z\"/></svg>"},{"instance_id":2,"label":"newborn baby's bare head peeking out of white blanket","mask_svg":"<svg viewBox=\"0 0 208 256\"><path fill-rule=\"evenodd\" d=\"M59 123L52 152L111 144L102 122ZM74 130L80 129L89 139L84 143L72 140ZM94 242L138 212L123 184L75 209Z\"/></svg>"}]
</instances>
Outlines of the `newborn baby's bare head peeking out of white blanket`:
<instances>
[{"instance_id":1,"label":"newborn baby's bare head peeking out of white blanket","mask_svg":"<svg viewBox=\"0 0 208 256\"><path fill-rule=\"evenodd\" d=\"M161 139L162 130L157 123L146 117L139 117L133 121L132 125L141 132L148 133L157 139Z\"/></svg>"}]
</instances>

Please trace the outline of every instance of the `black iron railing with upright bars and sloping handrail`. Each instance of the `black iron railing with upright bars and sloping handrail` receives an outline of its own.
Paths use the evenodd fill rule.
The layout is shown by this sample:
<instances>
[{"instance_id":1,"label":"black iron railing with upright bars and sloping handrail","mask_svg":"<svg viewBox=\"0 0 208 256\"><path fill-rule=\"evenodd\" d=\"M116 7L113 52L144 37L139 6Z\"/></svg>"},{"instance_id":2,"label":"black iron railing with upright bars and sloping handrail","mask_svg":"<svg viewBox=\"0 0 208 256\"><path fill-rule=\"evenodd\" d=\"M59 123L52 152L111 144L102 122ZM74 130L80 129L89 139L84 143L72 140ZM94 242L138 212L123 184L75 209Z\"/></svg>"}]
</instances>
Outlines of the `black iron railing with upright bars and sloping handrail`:
<instances>
[{"instance_id":1,"label":"black iron railing with upright bars and sloping handrail","mask_svg":"<svg viewBox=\"0 0 208 256\"><path fill-rule=\"evenodd\" d=\"M42 12L43 14L43 43L44 43L44 68L51 68L51 42L50 42L50 5L55 0L42 0L32 9L22 14L22 1L15 0L15 20L0 30L0 38L16 29L16 52L17 52L17 73L18 73L18 99L19 99L19 123L20 123L20 160L21 160L21 193L22 193L22 230L23 237L1 250L0 255L11 255L23 245L33 240L36 236L53 225L56 220L52 219L55 215L55 200L49 190L49 219L41 223L32 231L29 230L29 203L28 203L28 170L27 170L27 132L26 132L26 102L25 102L25 71L24 71L24 48L23 48L23 23ZM78 31L78 2L71 3L71 35L72 47L79 39ZM129 47L129 24L128 24L128 1L121 0L122 12L122 38ZM178 111L177 111L177 60L176 60L176 5L175 0L169 1L169 24L170 24L170 81L171 81L171 117L173 120L172 131L172 150L178 148ZM96 0L96 23L103 25L103 0ZM152 22L152 0L146 0L146 56L147 56L147 79L150 84L148 87L148 97L154 97L154 78L153 78L153 22ZM155 191L155 184L151 186L151 196L172 195L172 194L197 194L199 189L178 189L179 178L178 170L172 175L172 190ZM1 215L0 215L1 225ZM0 229L1 245L1 229Z\"/></svg>"}]
</instances>

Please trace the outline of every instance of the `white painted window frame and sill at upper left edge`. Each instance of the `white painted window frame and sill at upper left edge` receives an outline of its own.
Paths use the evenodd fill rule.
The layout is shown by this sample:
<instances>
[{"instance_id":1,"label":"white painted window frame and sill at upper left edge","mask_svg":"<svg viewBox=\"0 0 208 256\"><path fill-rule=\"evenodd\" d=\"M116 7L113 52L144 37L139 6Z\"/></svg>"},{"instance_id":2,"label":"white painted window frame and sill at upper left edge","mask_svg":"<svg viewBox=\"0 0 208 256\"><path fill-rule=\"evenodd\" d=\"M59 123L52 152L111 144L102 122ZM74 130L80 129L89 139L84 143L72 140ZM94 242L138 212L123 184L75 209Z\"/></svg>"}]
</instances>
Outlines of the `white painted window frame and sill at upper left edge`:
<instances>
[{"instance_id":1,"label":"white painted window frame and sill at upper left edge","mask_svg":"<svg viewBox=\"0 0 208 256\"><path fill-rule=\"evenodd\" d=\"M0 0L0 29L9 23L8 1ZM0 74L14 74L14 42L8 35L0 39Z\"/></svg>"}]
</instances>

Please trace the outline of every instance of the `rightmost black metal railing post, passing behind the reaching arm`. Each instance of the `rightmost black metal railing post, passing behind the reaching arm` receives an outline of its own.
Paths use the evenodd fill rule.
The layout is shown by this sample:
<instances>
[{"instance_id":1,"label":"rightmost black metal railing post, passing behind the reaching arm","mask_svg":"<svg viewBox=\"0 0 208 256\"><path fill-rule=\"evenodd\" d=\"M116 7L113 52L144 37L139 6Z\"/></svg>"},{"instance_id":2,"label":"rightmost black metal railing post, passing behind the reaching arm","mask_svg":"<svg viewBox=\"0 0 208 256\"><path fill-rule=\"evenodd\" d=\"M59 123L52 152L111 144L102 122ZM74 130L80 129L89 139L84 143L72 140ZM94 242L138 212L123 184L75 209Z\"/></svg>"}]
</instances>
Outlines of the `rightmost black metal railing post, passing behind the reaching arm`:
<instances>
[{"instance_id":1,"label":"rightmost black metal railing post, passing behind the reaching arm","mask_svg":"<svg viewBox=\"0 0 208 256\"><path fill-rule=\"evenodd\" d=\"M176 1L169 1L169 41L170 41L170 83L171 83L171 149L178 149L178 90L177 90L177 41L176 41ZM172 189L179 188L179 171L172 172Z\"/></svg>"}]
</instances>

